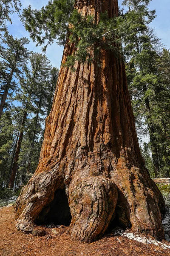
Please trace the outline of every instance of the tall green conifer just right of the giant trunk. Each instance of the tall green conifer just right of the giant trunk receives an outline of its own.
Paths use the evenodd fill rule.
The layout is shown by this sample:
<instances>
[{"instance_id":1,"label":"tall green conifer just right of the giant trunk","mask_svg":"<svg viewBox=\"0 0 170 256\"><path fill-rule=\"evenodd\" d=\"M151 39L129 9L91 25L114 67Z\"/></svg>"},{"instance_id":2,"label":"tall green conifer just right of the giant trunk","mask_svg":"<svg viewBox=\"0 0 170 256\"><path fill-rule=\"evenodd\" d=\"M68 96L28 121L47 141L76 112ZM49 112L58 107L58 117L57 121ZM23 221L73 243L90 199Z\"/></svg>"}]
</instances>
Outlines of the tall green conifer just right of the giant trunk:
<instances>
[{"instance_id":1,"label":"tall green conifer just right of the giant trunk","mask_svg":"<svg viewBox=\"0 0 170 256\"><path fill-rule=\"evenodd\" d=\"M161 43L145 21L141 22L140 29L134 28L133 34L125 38L124 43L124 53L128 60L127 81L136 125L141 134L149 134L154 176L160 177L164 169L161 156L161 144L164 141L162 122L166 120L165 116L165 119L162 117L167 110L170 96L159 69ZM164 104L166 107L163 107Z\"/></svg>"}]
</instances>

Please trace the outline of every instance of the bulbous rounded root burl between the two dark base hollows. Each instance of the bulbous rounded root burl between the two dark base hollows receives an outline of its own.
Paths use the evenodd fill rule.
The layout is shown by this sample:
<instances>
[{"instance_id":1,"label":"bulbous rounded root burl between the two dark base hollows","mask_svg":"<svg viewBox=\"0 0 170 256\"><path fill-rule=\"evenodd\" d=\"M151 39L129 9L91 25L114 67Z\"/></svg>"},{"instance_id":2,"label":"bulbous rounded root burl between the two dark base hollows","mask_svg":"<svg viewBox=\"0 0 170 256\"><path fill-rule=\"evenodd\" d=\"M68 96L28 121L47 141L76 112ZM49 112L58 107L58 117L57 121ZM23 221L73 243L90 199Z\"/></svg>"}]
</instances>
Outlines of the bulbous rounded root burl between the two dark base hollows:
<instances>
[{"instance_id":1,"label":"bulbous rounded root burl between the two dark base hollows","mask_svg":"<svg viewBox=\"0 0 170 256\"><path fill-rule=\"evenodd\" d=\"M78 184L72 181L69 194L73 216L71 236L83 241L94 241L105 232L111 221L117 202L116 186L104 177L95 177L95 181L94 177L88 177Z\"/></svg>"}]
</instances>

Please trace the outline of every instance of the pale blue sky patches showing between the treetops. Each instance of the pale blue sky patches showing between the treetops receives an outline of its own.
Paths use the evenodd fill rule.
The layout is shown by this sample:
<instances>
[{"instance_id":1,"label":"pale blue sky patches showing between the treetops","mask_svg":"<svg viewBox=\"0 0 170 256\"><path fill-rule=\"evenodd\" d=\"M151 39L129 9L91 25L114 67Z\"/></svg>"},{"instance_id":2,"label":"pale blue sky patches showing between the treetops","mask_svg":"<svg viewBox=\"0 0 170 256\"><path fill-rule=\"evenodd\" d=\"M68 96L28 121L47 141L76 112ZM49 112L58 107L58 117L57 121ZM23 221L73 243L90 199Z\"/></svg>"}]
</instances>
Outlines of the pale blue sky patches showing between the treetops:
<instances>
[{"instance_id":1,"label":"pale blue sky patches showing between the treetops","mask_svg":"<svg viewBox=\"0 0 170 256\"><path fill-rule=\"evenodd\" d=\"M122 0L118 0L118 2L119 5L121 5ZM27 8L28 5L31 5L33 9L40 9L48 3L48 0L21 0L21 3L23 8ZM157 36L161 38L163 44L165 44L167 48L170 48L170 0L153 0L150 3L150 9L156 9L157 15L151 26L155 29ZM17 15L12 16L12 21L13 23L8 26L10 34L17 38L29 38L29 33L26 32ZM31 39L28 49L34 52L41 52L41 47L36 47L36 43ZM53 67L60 67L62 52L63 47L59 47L55 43L48 46L46 55Z\"/></svg>"}]
</instances>

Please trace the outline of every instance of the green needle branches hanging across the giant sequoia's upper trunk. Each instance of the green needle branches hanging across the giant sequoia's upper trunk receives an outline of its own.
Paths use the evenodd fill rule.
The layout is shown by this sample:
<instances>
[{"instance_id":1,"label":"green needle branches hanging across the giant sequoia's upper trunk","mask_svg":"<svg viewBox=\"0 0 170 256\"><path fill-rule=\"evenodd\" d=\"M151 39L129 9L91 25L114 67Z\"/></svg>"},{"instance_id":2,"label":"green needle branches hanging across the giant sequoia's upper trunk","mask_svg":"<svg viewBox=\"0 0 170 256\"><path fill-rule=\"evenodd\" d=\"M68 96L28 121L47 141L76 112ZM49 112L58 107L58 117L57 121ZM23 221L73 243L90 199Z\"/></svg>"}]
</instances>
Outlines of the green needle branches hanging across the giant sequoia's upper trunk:
<instances>
[{"instance_id":1,"label":"green needle branches hanging across the giant sequoia's upper trunk","mask_svg":"<svg viewBox=\"0 0 170 256\"><path fill-rule=\"evenodd\" d=\"M50 0L40 10L33 10L29 6L28 9L24 9L23 17L31 38L37 41L37 44L45 44L43 50L46 50L48 44L54 43L54 40L59 45L64 45L66 41L74 44L76 51L74 55L68 57L65 64L74 70L76 60L99 61L101 49L108 49L120 55L122 38L133 35L133 31L139 29L142 22L150 23L154 19L155 10L147 9L149 2L125 0L123 4L128 6L125 14L108 17L107 12L101 13L98 23L94 16L83 16L74 9L73 0Z\"/></svg>"}]
</instances>

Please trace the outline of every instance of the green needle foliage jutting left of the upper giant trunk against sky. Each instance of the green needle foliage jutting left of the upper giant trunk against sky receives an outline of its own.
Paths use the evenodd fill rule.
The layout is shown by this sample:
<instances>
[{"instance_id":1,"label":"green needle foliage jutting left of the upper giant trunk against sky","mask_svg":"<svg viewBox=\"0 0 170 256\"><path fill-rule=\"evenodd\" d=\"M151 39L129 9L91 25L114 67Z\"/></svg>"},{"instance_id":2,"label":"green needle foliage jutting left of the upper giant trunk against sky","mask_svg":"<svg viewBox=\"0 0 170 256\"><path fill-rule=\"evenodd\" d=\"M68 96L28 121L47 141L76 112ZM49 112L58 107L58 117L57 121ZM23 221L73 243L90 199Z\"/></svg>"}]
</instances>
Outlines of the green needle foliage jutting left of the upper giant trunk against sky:
<instances>
[{"instance_id":1,"label":"green needle foliage jutting left of the upper giant trunk against sky","mask_svg":"<svg viewBox=\"0 0 170 256\"><path fill-rule=\"evenodd\" d=\"M26 30L37 44L48 44L57 39L59 45L65 44L69 20L74 11L74 0L50 0L42 9L32 10L31 6L23 10L26 18Z\"/></svg>"}]
</instances>

